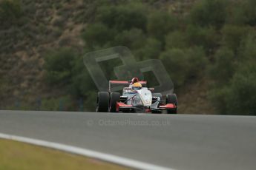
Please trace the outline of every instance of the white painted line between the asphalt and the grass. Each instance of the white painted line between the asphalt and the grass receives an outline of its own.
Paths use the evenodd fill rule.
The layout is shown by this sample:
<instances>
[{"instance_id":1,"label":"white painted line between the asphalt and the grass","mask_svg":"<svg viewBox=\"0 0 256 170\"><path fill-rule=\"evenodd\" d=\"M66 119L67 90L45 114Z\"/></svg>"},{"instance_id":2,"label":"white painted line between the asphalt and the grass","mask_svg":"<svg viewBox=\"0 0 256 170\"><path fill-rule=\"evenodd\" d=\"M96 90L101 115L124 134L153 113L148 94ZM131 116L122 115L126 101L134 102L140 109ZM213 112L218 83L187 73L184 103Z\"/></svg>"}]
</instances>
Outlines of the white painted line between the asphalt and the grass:
<instances>
[{"instance_id":1,"label":"white painted line between the asphalt and the grass","mask_svg":"<svg viewBox=\"0 0 256 170\"><path fill-rule=\"evenodd\" d=\"M143 163L137 160L131 160L125 157L118 157L113 154L105 154L101 152L95 152L89 149L82 149L76 146L68 146L61 143L53 143L45 140L36 140L28 137L20 137L16 135L7 135L0 133L0 138L8 139L8 140L16 140L24 143L30 143L36 146L45 146L51 149L58 149L65 152L70 152L73 154L80 154L86 157L93 157L99 160L104 160L111 163L116 163L122 166L128 166L133 169L146 169L146 170L174 170L170 168L166 168L163 166L156 166L150 163Z\"/></svg>"}]
</instances>

